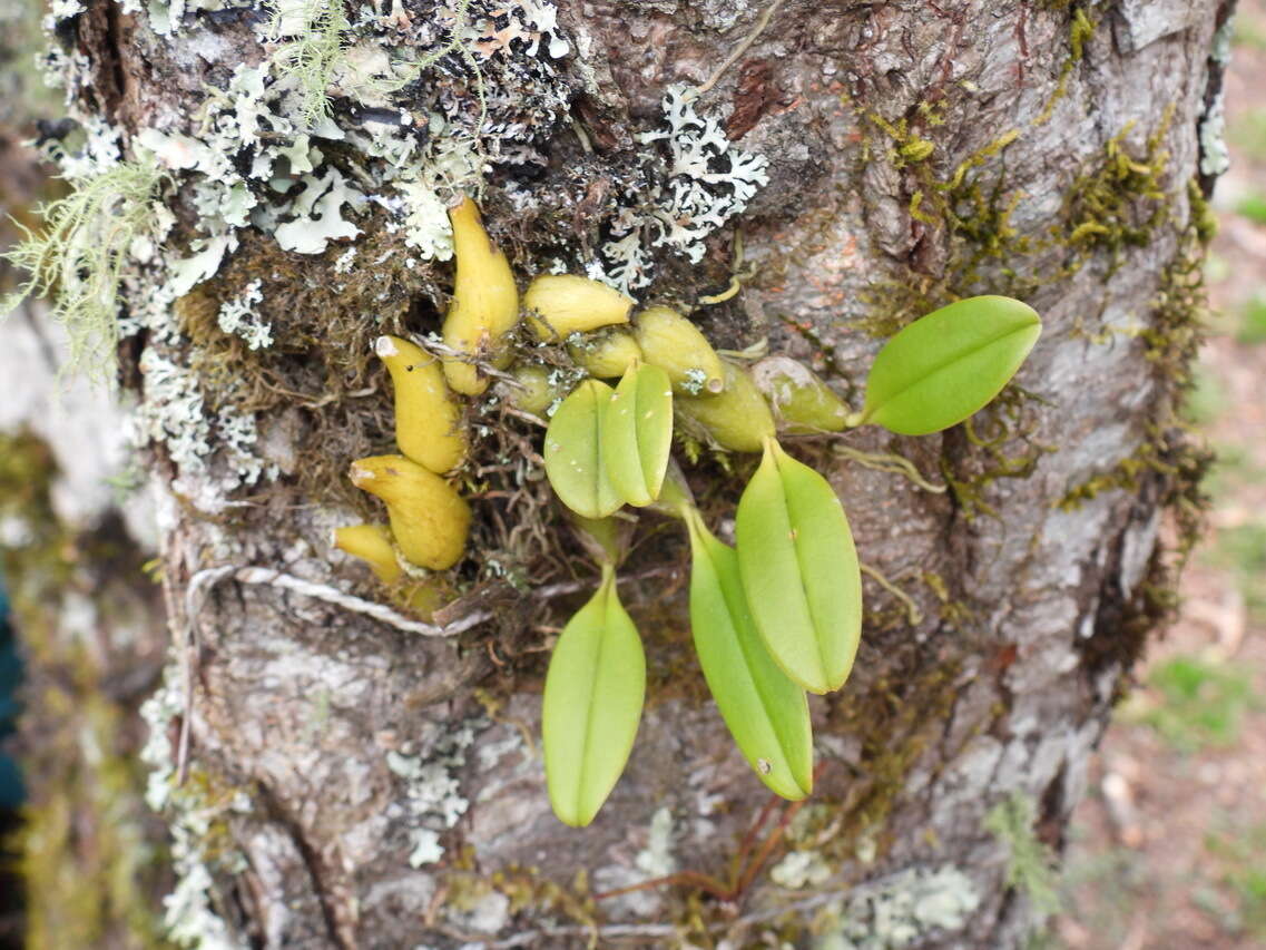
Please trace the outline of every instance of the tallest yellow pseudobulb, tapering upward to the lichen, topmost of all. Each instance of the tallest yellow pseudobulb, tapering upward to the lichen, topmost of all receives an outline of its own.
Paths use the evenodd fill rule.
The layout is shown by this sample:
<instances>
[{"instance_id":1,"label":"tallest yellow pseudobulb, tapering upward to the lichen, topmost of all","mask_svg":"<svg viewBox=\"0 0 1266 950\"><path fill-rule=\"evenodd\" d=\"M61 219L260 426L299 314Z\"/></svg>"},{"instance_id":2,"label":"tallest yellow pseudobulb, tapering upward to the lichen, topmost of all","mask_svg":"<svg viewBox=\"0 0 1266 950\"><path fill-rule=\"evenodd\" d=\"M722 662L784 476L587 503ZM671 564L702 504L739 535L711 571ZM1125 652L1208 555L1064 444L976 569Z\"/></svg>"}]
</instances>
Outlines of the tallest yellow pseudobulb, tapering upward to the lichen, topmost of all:
<instances>
[{"instance_id":1,"label":"tallest yellow pseudobulb, tapering upward to the lichen, topmost of all","mask_svg":"<svg viewBox=\"0 0 1266 950\"><path fill-rule=\"evenodd\" d=\"M505 366L505 334L519 322L519 291L514 286L510 262L489 239L480 222L479 208L466 198L451 208L453 223L453 257L457 276L453 280L453 303L444 318L444 345L471 357ZM444 361L448 385L466 395L479 395L487 389L487 380L472 364Z\"/></svg>"}]
</instances>

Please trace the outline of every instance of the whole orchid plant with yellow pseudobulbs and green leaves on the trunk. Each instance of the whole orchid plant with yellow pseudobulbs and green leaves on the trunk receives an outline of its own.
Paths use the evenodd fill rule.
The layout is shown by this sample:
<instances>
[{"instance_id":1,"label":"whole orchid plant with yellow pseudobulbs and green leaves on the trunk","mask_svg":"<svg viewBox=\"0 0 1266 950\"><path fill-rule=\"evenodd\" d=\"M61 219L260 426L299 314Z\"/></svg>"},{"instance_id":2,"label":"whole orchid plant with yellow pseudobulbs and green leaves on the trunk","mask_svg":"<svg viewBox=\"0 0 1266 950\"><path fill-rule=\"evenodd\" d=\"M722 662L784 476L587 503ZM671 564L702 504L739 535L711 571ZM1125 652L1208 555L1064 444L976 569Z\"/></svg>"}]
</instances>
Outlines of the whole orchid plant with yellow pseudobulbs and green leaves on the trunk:
<instances>
[{"instance_id":1,"label":"whole orchid plant with yellow pseudobulbs and green leaves on the trunk","mask_svg":"<svg viewBox=\"0 0 1266 950\"><path fill-rule=\"evenodd\" d=\"M536 277L522 298L505 256L470 199L449 212L456 277L437 353L400 337L375 352L395 389L399 455L361 459L352 483L382 500L387 523L335 531L335 545L372 566L403 600L427 612L428 571L461 560L471 509L446 475L466 461L461 396L513 379L506 396L549 417L546 474L595 552L596 593L566 624L546 678L542 735L555 813L587 825L633 747L646 660L620 604L624 556L614 516L624 505L680 518L691 550L690 623L708 688L755 774L789 799L813 790L806 693L839 689L861 633L861 573L834 489L791 457L777 436L841 432L874 423L924 434L990 402L1041 333L1025 304L960 300L893 337L871 367L865 405L849 408L812 370L770 356L753 366L723 358L686 317L634 301L575 275ZM541 343L561 343L587 374L570 391L558 374L515 347L520 309ZM570 375L575 379L575 374ZM610 385L604 380L618 380ZM674 432L736 452L761 452L734 516L734 546L720 541L672 462ZM423 569L423 570L418 570Z\"/></svg>"}]
</instances>

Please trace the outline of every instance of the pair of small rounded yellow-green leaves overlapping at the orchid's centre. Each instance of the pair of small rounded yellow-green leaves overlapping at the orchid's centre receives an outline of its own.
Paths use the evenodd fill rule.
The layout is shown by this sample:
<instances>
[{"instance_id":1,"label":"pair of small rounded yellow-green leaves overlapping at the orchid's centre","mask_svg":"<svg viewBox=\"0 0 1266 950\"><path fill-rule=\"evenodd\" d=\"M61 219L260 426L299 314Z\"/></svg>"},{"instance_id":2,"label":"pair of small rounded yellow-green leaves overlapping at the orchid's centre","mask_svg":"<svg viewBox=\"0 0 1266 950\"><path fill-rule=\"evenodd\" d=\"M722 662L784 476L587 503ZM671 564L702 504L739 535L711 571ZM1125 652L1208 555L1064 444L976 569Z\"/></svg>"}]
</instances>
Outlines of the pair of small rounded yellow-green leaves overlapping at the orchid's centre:
<instances>
[{"instance_id":1,"label":"pair of small rounded yellow-green leaves overlapping at the orchid's centre","mask_svg":"<svg viewBox=\"0 0 1266 950\"><path fill-rule=\"evenodd\" d=\"M560 500L585 518L660 497L672 445L672 390L657 366L634 362L611 389L581 383L546 431L546 474Z\"/></svg>"}]
</instances>

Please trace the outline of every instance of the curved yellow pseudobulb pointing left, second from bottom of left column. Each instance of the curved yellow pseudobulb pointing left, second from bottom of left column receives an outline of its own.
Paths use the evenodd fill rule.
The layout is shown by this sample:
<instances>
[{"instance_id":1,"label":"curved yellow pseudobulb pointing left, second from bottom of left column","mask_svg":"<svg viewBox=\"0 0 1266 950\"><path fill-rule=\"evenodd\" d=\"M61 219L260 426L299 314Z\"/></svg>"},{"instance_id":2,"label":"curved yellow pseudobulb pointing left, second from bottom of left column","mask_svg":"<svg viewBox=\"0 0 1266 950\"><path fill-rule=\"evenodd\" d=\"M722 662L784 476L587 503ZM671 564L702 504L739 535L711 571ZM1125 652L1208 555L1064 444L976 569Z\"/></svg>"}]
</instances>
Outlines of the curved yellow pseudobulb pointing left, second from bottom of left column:
<instances>
[{"instance_id":1,"label":"curved yellow pseudobulb pointing left, second from bottom of left column","mask_svg":"<svg viewBox=\"0 0 1266 950\"><path fill-rule=\"evenodd\" d=\"M471 509L442 478L403 455L352 462L352 484L387 505L391 535L413 564L447 570L461 559Z\"/></svg>"}]
</instances>

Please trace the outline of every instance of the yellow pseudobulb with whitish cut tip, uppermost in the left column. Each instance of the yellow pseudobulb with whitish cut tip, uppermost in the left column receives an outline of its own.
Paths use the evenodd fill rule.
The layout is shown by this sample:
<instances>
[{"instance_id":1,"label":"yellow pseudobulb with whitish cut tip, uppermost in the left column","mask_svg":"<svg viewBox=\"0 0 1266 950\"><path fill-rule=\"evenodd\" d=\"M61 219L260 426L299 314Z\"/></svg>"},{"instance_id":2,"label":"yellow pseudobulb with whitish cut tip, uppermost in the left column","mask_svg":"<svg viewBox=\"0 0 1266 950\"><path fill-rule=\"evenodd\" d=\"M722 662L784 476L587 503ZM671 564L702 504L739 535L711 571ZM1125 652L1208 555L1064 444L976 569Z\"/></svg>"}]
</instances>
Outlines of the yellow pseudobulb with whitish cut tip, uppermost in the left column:
<instances>
[{"instance_id":1,"label":"yellow pseudobulb with whitish cut tip, uppermost in the left column","mask_svg":"<svg viewBox=\"0 0 1266 950\"><path fill-rule=\"evenodd\" d=\"M400 337L379 337L373 352L386 364L395 386L396 445L434 472L466 460L461 408L441 370L439 360Z\"/></svg>"}]
</instances>

